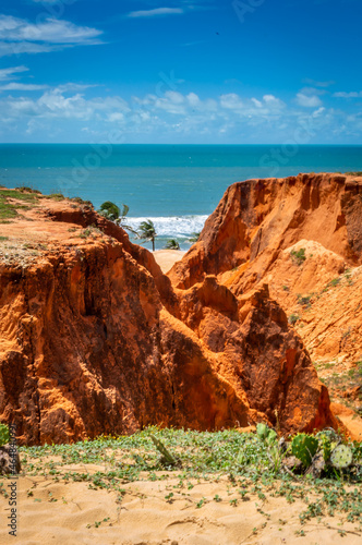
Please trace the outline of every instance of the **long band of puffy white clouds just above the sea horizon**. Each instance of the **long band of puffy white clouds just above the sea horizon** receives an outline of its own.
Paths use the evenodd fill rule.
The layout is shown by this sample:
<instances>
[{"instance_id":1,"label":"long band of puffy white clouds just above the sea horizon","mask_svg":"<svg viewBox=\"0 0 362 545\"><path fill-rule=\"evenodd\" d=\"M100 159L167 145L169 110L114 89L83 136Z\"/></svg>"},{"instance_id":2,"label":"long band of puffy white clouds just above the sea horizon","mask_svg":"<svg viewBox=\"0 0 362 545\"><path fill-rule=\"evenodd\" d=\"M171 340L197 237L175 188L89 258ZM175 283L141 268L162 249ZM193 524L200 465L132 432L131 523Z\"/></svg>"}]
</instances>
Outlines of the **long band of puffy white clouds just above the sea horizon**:
<instances>
[{"instance_id":1,"label":"long band of puffy white clouds just above the sea horizon","mask_svg":"<svg viewBox=\"0 0 362 545\"><path fill-rule=\"evenodd\" d=\"M107 137L114 128L121 130L129 142L159 142L177 135L182 142L283 142L292 138L295 128L303 129L306 142L315 135L333 137L335 132L362 131L361 119L345 111L317 106L313 109L297 108L295 101L286 104L277 96L248 97L236 93L221 95L218 99L200 97L194 92L183 94L168 90L132 97L130 101L120 96L94 97L87 95L87 85L67 83L56 88L37 89L34 83L9 82L25 73L25 66L4 69L0 78L4 82L0 90L19 90L0 96L0 119L7 125L7 137L26 135L38 141L46 134L62 140L99 140ZM39 85L38 87L41 87ZM31 95L29 90L39 90ZM310 100L312 96L305 95ZM318 98L318 97L317 97ZM307 102L311 107L311 100ZM355 112L354 112L355 113ZM358 121L358 122L357 122ZM345 128L345 129L343 129ZM71 136L70 136L71 135ZM82 136L83 135L83 136ZM98 136L97 136L98 135ZM82 140L83 138L83 140ZM138 140L137 140L138 138ZM362 134L361 134L362 138Z\"/></svg>"}]
</instances>

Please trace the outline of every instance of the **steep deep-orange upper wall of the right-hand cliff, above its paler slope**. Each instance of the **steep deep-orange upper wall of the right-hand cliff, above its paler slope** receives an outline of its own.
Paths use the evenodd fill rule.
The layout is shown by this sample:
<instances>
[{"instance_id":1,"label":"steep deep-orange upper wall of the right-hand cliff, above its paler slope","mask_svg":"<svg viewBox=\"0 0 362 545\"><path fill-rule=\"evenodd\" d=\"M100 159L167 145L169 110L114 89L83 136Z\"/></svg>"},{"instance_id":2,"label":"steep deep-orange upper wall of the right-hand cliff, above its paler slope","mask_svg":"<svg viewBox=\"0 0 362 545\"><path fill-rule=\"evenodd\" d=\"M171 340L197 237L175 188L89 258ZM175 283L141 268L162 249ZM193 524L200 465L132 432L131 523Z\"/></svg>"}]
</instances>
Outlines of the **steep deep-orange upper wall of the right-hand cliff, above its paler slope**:
<instances>
[{"instance_id":1,"label":"steep deep-orange upper wall of the right-hand cliff, above its paler slope","mask_svg":"<svg viewBox=\"0 0 362 545\"><path fill-rule=\"evenodd\" d=\"M185 289L205 275L240 267L233 290L242 293L264 279L281 251L302 239L361 264L361 196L362 178L341 174L234 183L169 277Z\"/></svg>"}]
</instances>

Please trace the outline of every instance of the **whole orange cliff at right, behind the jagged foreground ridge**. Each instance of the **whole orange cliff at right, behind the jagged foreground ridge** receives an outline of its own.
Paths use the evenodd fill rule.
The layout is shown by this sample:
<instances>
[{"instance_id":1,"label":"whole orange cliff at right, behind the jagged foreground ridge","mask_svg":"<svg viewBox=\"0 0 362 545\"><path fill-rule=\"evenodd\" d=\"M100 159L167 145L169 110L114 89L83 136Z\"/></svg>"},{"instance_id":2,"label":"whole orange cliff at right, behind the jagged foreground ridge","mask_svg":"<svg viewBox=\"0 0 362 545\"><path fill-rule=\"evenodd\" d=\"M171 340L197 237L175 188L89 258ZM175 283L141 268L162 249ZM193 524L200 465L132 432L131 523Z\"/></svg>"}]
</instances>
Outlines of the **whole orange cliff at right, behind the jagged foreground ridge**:
<instances>
[{"instance_id":1,"label":"whole orange cliff at right, behind the jagged foreground ridge","mask_svg":"<svg viewBox=\"0 0 362 545\"><path fill-rule=\"evenodd\" d=\"M362 178L299 174L231 185L168 276L189 293L215 275L238 301L266 283L326 384L361 411L361 264Z\"/></svg>"}]
</instances>

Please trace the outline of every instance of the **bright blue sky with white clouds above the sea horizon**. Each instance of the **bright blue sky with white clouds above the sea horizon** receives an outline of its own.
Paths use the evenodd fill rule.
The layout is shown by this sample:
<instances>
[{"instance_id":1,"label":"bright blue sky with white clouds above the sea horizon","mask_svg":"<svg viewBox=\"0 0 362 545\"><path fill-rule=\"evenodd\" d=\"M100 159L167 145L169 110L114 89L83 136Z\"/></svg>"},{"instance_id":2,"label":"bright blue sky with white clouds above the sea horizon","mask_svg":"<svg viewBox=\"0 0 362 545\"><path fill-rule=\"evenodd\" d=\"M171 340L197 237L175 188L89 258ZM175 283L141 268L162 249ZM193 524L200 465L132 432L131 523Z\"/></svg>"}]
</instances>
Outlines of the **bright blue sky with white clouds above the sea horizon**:
<instances>
[{"instance_id":1,"label":"bright blue sky with white clouds above the sea horizon","mask_svg":"<svg viewBox=\"0 0 362 545\"><path fill-rule=\"evenodd\" d=\"M361 0L2 0L0 142L362 144Z\"/></svg>"}]
</instances>

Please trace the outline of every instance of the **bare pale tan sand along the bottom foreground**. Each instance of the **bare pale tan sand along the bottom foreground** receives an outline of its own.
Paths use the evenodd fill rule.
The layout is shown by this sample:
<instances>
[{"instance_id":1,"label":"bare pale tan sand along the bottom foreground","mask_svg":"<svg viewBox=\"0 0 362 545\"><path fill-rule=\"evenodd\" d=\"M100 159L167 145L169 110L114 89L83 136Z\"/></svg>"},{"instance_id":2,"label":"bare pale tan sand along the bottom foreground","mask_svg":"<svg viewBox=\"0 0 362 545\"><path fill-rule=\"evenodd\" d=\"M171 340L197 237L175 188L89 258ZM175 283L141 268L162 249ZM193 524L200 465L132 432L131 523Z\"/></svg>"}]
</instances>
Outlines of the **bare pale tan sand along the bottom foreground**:
<instances>
[{"instance_id":1,"label":"bare pale tan sand along the bottom foreground","mask_svg":"<svg viewBox=\"0 0 362 545\"><path fill-rule=\"evenodd\" d=\"M84 473L89 465L72 465ZM93 471L105 470L93 467ZM178 473L161 472L164 481L137 481L122 484L122 500L116 492L92 489L86 482L64 483L44 476L22 476L17 481L17 536L5 528L8 499L0 495L0 544L38 545L77 544L343 544L360 545L358 523L340 525L340 517L312 518L301 525L299 514L306 504L285 497L266 497L248 492L239 494L227 477L219 482L184 481ZM7 481L2 480L4 485ZM192 486L193 485L193 486ZM173 494L173 495L172 495ZM237 500L237 501L232 501ZM236 504L236 506L233 506ZM197 507L198 506L198 507ZM301 530L305 536L301 536ZM339 533L346 531L345 537Z\"/></svg>"}]
</instances>

